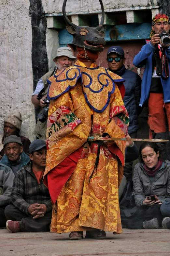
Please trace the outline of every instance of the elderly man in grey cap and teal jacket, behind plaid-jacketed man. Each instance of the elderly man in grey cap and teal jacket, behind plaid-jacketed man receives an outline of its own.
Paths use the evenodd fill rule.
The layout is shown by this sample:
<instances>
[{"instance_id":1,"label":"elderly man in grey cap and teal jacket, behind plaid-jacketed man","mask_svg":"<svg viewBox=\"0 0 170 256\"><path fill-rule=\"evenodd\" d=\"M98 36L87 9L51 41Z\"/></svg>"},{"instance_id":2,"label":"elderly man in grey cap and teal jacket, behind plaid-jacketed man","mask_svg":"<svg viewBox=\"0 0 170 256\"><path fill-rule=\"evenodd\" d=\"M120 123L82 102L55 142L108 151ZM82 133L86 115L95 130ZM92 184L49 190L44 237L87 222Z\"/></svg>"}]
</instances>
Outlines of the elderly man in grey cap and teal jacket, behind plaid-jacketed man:
<instances>
[{"instance_id":1,"label":"elderly man in grey cap and teal jacket, behind plaid-jacketed man","mask_svg":"<svg viewBox=\"0 0 170 256\"><path fill-rule=\"evenodd\" d=\"M23 152L21 138L16 135L11 135L4 140L5 155L0 163L10 167L14 173L21 169L30 159Z\"/></svg>"}]
</instances>

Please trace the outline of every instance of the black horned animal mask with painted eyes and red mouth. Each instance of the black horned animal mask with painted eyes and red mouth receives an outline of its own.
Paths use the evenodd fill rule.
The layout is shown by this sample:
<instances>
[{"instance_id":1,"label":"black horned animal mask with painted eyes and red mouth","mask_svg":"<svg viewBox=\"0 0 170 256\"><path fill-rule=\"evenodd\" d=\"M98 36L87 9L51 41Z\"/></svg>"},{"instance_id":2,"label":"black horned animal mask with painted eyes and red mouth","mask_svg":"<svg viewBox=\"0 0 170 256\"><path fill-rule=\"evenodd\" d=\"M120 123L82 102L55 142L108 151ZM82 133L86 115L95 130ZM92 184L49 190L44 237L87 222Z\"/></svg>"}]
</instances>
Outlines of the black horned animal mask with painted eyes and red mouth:
<instances>
[{"instance_id":1,"label":"black horned animal mask with painted eyes and red mouth","mask_svg":"<svg viewBox=\"0 0 170 256\"><path fill-rule=\"evenodd\" d=\"M103 7L102 0L99 0L102 8L102 18L99 26L97 27L87 27L87 26L77 26L73 24L66 15L65 6L67 0L63 3L63 17L65 22L69 25L66 27L67 31L73 35L73 44L82 48L86 48L95 52L102 52L104 49L105 42L105 32L101 31L103 27L105 11Z\"/></svg>"}]
</instances>

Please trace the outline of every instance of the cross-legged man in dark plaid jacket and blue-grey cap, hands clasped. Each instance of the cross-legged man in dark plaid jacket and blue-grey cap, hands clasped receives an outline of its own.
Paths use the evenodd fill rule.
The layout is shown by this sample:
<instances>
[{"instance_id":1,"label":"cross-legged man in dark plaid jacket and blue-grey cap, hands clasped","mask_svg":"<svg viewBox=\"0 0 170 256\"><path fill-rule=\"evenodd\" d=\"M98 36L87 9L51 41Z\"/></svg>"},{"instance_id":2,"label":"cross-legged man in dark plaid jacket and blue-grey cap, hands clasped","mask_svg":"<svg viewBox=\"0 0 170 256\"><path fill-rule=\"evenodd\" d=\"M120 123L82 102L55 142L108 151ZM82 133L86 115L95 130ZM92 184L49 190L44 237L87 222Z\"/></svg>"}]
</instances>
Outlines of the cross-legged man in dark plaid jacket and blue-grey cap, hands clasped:
<instances>
[{"instance_id":1,"label":"cross-legged man in dark plaid jacket and blue-grey cap, hands clasped","mask_svg":"<svg viewBox=\"0 0 170 256\"><path fill-rule=\"evenodd\" d=\"M29 152L30 161L14 178L12 205L5 209L9 232L50 231L52 204L43 183L47 155L45 141L33 141Z\"/></svg>"}]
</instances>

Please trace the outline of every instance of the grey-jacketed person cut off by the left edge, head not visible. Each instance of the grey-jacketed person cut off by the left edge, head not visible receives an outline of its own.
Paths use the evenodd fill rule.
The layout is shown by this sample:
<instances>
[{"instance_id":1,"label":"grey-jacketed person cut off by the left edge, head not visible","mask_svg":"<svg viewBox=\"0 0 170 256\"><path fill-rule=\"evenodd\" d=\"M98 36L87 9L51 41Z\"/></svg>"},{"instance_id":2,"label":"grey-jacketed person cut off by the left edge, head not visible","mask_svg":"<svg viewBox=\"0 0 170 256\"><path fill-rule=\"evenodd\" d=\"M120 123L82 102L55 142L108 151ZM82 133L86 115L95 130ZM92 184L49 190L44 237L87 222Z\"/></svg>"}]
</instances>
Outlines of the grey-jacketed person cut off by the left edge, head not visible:
<instances>
[{"instance_id":1,"label":"grey-jacketed person cut off by the left edge, head not visible","mask_svg":"<svg viewBox=\"0 0 170 256\"><path fill-rule=\"evenodd\" d=\"M14 173L8 166L0 163L0 228L6 227L5 207L10 204L10 194Z\"/></svg>"}]
</instances>

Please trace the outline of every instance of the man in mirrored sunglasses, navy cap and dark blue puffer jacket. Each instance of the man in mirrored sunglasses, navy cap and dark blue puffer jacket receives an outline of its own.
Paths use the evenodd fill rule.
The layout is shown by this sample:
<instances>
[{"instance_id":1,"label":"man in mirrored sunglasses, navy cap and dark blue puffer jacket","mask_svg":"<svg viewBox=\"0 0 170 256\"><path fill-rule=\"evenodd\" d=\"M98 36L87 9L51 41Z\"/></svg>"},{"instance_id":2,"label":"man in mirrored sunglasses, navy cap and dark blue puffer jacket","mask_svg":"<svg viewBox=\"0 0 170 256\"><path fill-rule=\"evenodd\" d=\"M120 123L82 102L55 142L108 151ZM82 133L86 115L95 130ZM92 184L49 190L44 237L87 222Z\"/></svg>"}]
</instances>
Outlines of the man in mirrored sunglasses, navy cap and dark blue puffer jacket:
<instances>
[{"instance_id":1,"label":"man in mirrored sunglasses, navy cap and dark blue puffer jacket","mask_svg":"<svg viewBox=\"0 0 170 256\"><path fill-rule=\"evenodd\" d=\"M128 134L131 138L136 138L139 128L137 117L142 110L142 108L139 107L142 81L139 75L125 68L125 60L126 58L124 57L122 47L112 46L108 49L108 69L126 80L124 82L125 96L123 102L129 114ZM125 163L124 175L127 180L132 179L132 164L133 162Z\"/></svg>"}]
</instances>

